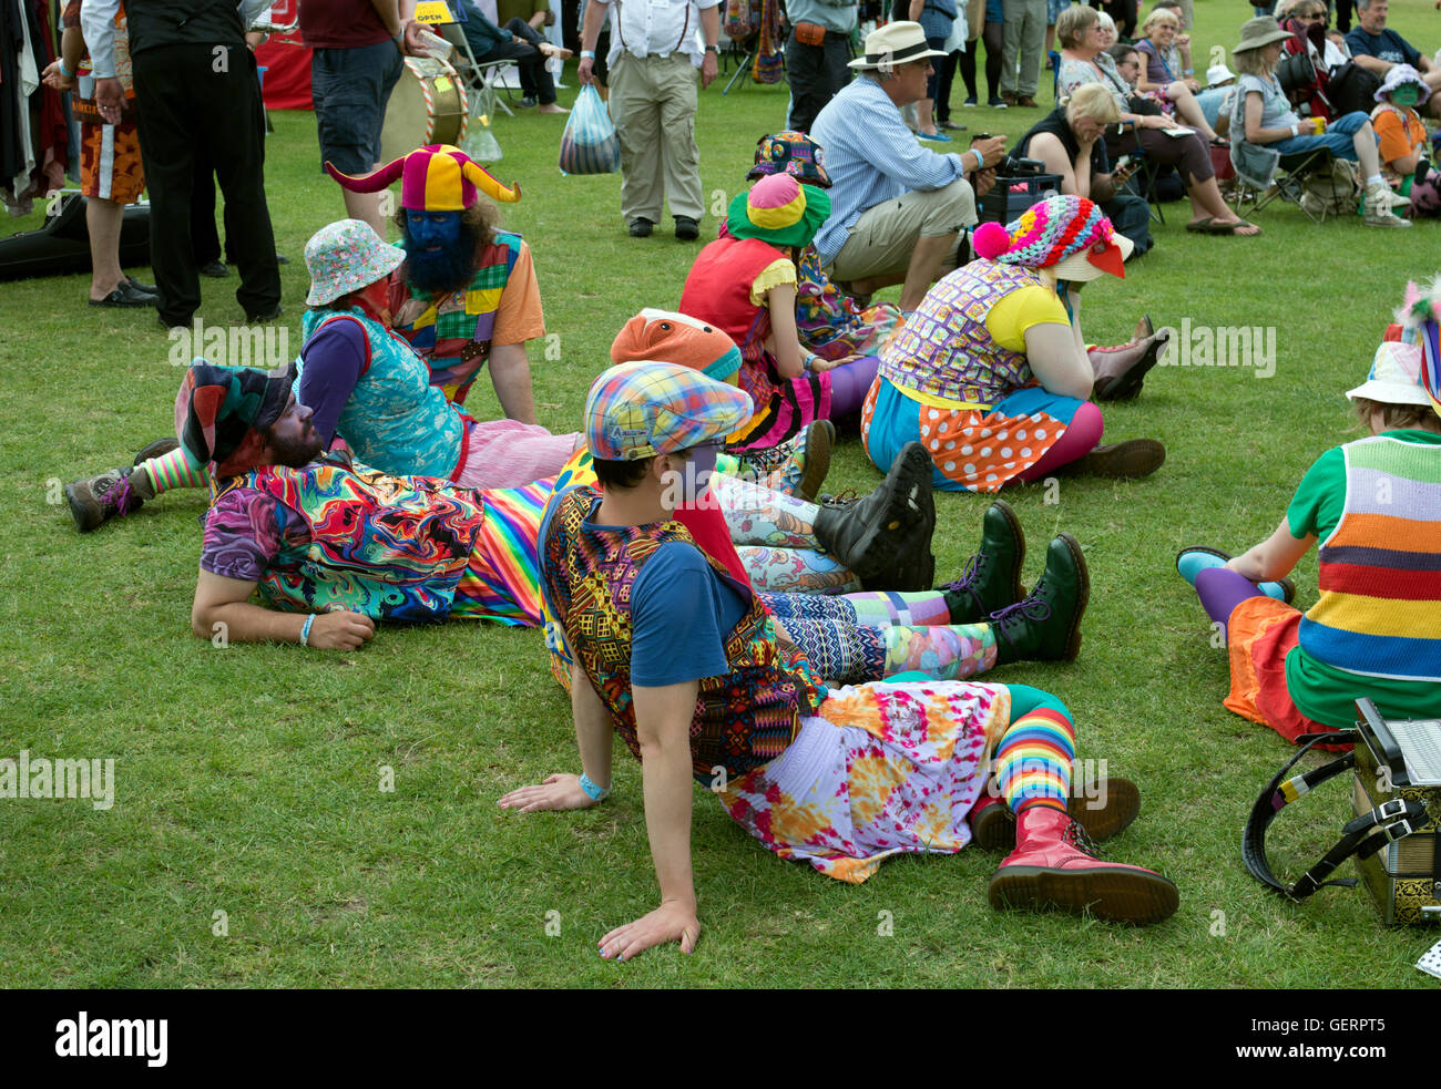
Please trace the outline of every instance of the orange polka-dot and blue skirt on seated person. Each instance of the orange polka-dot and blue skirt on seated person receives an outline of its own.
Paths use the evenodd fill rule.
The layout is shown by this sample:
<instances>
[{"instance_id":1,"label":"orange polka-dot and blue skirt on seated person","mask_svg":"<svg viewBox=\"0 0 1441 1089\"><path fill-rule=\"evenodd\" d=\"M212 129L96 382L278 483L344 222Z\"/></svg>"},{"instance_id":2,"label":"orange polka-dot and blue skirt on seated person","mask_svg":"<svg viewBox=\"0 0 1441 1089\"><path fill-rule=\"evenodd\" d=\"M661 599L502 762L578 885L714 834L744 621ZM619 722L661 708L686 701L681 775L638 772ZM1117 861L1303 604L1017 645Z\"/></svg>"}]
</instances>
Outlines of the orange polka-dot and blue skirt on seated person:
<instances>
[{"instance_id":1,"label":"orange polka-dot and blue skirt on seated person","mask_svg":"<svg viewBox=\"0 0 1441 1089\"><path fill-rule=\"evenodd\" d=\"M942 491L1000 491L1050 449L1082 402L1026 386L989 411L932 408L878 377L860 412L866 454L882 472L906 442L924 442Z\"/></svg>"}]
</instances>

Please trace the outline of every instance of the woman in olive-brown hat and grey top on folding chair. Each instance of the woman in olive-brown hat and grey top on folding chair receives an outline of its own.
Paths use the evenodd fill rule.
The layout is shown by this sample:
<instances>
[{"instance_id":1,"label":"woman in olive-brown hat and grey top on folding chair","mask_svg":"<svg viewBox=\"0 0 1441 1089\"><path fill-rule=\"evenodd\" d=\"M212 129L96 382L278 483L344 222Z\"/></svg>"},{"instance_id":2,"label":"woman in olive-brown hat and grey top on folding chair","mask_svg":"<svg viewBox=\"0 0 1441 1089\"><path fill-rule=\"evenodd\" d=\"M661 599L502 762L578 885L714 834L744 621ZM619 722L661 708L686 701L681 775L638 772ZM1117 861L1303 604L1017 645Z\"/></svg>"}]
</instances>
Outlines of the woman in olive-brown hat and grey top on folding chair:
<instances>
[{"instance_id":1,"label":"woman in olive-brown hat and grey top on folding chair","mask_svg":"<svg viewBox=\"0 0 1441 1089\"><path fill-rule=\"evenodd\" d=\"M1366 114L1356 109L1327 124L1320 118L1301 118L1291 109L1275 78L1281 42L1288 37L1290 33L1278 29L1274 19L1248 19L1241 27L1239 45L1231 50L1239 72L1236 101L1231 108L1231 135L1235 141L1231 157L1236 173L1270 184L1270 174L1281 156L1324 147L1337 158L1360 166L1366 179L1366 226L1411 226L1409 219L1401 219L1392 210L1392 205L1406 202L1393 199L1391 186L1380 174L1376 133Z\"/></svg>"}]
</instances>

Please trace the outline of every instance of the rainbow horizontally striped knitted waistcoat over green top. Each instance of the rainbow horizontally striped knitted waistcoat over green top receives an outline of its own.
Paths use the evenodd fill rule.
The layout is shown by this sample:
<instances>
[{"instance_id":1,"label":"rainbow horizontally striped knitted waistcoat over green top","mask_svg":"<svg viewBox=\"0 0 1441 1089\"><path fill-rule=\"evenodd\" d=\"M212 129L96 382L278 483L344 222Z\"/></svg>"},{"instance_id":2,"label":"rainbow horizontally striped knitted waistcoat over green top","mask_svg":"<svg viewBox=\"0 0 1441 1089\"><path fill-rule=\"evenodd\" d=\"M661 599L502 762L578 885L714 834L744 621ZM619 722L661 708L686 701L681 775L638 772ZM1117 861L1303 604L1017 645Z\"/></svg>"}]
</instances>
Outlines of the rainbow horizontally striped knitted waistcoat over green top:
<instances>
[{"instance_id":1,"label":"rainbow horizontally striped knitted waistcoat over green top","mask_svg":"<svg viewBox=\"0 0 1441 1089\"><path fill-rule=\"evenodd\" d=\"M1301 648L1366 677L1441 681L1441 447L1378 435L1342 452L1346 506Z\"/></svg>"}]
</instances>

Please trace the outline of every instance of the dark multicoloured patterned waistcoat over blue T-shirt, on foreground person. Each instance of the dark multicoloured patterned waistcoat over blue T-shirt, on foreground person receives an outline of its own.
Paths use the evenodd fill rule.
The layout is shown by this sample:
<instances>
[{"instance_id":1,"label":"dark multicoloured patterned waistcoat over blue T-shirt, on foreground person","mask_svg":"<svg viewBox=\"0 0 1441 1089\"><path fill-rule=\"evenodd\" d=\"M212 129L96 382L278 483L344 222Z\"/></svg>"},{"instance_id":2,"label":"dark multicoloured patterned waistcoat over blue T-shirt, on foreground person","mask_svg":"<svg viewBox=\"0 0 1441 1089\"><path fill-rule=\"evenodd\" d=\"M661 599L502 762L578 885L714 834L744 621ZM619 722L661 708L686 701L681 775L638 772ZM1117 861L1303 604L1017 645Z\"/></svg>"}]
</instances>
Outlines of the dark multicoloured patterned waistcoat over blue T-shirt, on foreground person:
<instances>
[{"instance_id":1,"label":"dark multicoloured patterned waistcoat over blue T-shirt, on foreground person","mask_svg":"<svg viewBox=\"0 0 1441 1089\"><path fill-rule=\"evenodd\" d=\"M611 713L615 732L640 756L631 699L630 592L646 560L673 540L692 543L679 521L598 532L584 523L599 491L578 487L561 497L542 540L540 565L546 604L559 619L572 654ZM705 553L702 553L705 555ZM706 560L720 578L725 569ZM731 671L699 683L690 725L690 759L696 779L710 782L722 766L729 776L775 759L824 694L804 655L781 648L759 599L726 637Z\"/></svg>"}]
</instances>

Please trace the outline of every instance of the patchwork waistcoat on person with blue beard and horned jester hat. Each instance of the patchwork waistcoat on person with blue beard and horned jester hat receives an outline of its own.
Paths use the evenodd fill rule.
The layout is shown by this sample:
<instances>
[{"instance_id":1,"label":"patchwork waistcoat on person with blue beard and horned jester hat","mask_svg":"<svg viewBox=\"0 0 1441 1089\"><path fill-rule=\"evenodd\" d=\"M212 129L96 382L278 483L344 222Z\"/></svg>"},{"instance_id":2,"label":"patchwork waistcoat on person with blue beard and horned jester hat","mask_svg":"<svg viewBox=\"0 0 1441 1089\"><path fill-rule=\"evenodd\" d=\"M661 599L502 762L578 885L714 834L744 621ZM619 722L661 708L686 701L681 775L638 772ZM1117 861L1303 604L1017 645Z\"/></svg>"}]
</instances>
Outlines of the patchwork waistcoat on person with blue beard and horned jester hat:
<instances>
[{"instance_id":1,"label":"patchwork waistcoat on person with blue beard and horned jester hat","mask_svg":"<svg viewBox=\"0 0 1441 1089\"><path fill-rule=\"evenodd\" d=\"M520 235L497 230L480 255L470 284L442 298L409 291L396 310L395 331L425 357L431 385L457 405L490 359L500 295L520 258Z\"/></svg>"}]
</instances>

